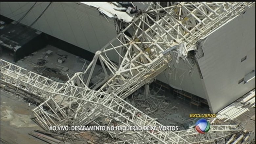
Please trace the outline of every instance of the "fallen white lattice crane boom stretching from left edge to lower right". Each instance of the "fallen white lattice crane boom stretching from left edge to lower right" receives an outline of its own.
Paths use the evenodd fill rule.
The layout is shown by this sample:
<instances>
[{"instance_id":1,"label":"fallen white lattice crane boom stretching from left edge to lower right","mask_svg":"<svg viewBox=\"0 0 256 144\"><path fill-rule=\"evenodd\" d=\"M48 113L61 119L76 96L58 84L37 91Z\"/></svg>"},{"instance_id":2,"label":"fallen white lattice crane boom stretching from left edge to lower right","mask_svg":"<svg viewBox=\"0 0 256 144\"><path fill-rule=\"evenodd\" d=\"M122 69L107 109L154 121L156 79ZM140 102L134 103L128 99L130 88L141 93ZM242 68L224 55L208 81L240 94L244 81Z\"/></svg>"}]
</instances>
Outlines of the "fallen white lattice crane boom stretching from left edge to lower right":
<instances>
[{"instance_id":1,"label":"fallen white lattice crane boom stretching from left edge to lower right","mask_svg":"<svg viewBox=\"0 0 256 144\"><path fill-rule=\"evenodd\" d=\"M45 129L48 129L49 126L61 126L61 125L65 125L65 124L70 124L70 123L66 123L66 121L73 118L73 116L68 115L69 114L69 113L67 113L68 110L60 108L60 105L57 104L59 102L57 100L58 99L57 96L63 96L63 98L69 98L70 101L76 101L76 102L80 102L80 103L92 102L92 103L97 104L96 102L86 100L86 98L83 96L78 97L77 95L83 95L82 93L80 93L82 91L82 88L80 88L80 87L55 82L51 79L43 77L34 72L30 72L26 69L23 69L21 67L13 65L13 64L11 64L7 61L4 61L2 59L1 59L1 81L9 83L9 84L11 84L15 87L18 87L24 91L27 91L29 93L47 98L47 100L45 102L43 102L36 109L33 110L35 112L35 116L38 118L39 122L41 122L41 124L42 124L41 126L43 126ZM73 87L73 89L76 89L77 92L76 93L70 93L70 92L59 93L59 92L57 92L58 89L63 86L66 86L67 89L68 89L68 87ZM80 90L80 92L79 92L79 90ZM87 94L90 94L90 93L87 93ZM91 94L93 94L93 93L91 92ZM57 96L55 96L55 95L57 95ZM54 96L55 96L55 98L53 98ZM86 96L86 94L85 94L85 96ZM109 95L105 94L104 96L108 97ZM111 119L116 120L116 121L119 121L120 123L123 123L124 125L127 125L127 126L129 126L129 125L161 126L161 124L156 122L154 119L148 117L146 114L137 110L135 107L128 104L126 101L122 100L118 96L113 97L112 99L120 101L120 102L118 103L118 102L112 101L113 106L110 106L110 107L107 106L105 103L98 104L98 105L102 106L101 109L104 109L102 111L106 112L103 115L109 116L108 117L109 120L111 120ZM65 103L65 102L63 102L63 103ZM119 107L120 105L122 107ZM63 106L63 105L61 105L61 106ZM118 110L118 107L119 107L119 109L122 109L122 110L116 111L116 110ZM113 115L113 113L115 115ZM137 116L135 113L139 113L140 115ZM129 114L131 117L126 117ZM127 122L125 122L125 120L123 120L121 118L125 119ZM123 121L121 121L120 119ZM204 140L212 140L213 137L216 139L218 137L222 137L223 134L229 135L229 134L233 134L233 133L240 131L240 129L237 127L237 125L212 126L211 129L212 129L212 131L207 133L210 136ZM216 132L221 132L221 133L216 133ZM211 135L211 133L214 133L214 135ZM138 139L137 139L138 141L136 141L136 139L132 139L132 140L127 139L126 141L129 143L131 141L133 141L133 143L140 143L140 140L143 137L145 139L145 141L144 141L145 143L148 143L148 142L160 143L160 142L163 142L163 140L165 140L164 143L182 143L182 142L193 143L196 140L202 141L202 139L198 140L196 138L199 135L198 135L198 133L196 133L194 131L194 129L178 131L176 133L173 133L173 132L156 132L156 133L153 132L152 133L152 132L146 131L146 132L137 132L136 134L139 134ZM127 135L129 135L129 134L127 134ZM190 141L189 139L187 139L188 138L187 136L191 137L192 135L195 135L195 141ZM153 140L154 137L156 138L156 140ZM127 136L126 138L129 138L129 137ZM183 141L182 141L182 139L183 139Z\"/></svg>"}]
</instances>

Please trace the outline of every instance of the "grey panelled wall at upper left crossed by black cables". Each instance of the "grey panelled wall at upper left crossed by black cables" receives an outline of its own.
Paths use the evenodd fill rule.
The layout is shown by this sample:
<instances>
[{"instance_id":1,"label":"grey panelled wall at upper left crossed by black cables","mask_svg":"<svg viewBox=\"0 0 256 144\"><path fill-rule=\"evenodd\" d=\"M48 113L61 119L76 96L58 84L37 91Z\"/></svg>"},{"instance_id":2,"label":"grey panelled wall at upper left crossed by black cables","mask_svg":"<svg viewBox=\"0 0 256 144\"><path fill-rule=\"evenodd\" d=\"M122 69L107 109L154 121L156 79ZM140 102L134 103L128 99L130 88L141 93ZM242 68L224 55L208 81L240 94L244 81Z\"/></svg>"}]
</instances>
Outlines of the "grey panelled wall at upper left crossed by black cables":
<instances>
[{"instance_id":1,"label":"grey panelled wall at upper left crossed by black cables","mask_svg":"<svg viewBox=\"0 0 256 144\"><path fill-rule=\"evenodd\" d=\"M34 2L1 2L0 12L17 21L33 4ZM21 23L30 25L48 4L49 2L37 2ZM78 4L53 2L32 28L87 51L101 49L117 35L113 19L108 19L108 22L95 8Z\"/></svg>"}]
</instances>

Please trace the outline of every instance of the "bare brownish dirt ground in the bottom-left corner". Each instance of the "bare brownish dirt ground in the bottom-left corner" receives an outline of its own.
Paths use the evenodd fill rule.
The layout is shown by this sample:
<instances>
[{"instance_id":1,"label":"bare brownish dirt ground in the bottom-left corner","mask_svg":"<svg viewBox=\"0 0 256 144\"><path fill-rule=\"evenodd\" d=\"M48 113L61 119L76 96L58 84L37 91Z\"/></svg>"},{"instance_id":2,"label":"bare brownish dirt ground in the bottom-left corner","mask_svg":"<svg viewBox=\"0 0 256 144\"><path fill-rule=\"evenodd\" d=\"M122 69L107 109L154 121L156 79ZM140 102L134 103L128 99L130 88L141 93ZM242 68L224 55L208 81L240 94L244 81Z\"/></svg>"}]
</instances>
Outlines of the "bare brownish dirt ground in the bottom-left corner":
<instances>
[{"instance_id":1,"label":"bare brownish dirt ground in the bottom-left corner","mask_svg":"<svg viewBox=\"0 0 256 144\"><path fill-rule=\"evenodd\" d=\"M0 144L47 144L29 135L42 130L31 118L33 106L1 89L1 142Z\"/></svg>"}]
</instances>

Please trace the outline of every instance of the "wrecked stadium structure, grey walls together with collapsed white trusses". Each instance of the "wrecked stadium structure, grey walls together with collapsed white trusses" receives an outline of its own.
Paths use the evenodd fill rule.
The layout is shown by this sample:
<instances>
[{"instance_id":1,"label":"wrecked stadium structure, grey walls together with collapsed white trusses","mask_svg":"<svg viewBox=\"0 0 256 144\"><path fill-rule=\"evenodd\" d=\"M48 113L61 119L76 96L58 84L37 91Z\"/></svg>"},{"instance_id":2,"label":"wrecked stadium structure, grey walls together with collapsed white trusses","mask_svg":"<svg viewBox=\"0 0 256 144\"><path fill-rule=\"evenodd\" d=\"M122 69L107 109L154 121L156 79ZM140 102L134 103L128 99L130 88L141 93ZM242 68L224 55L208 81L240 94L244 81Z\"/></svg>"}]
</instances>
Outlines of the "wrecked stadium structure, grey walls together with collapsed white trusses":
<instances>
[{"instance_id":1,"label":"wrecked stadium structure, grey walls together with collapsed white trusses","mask_svg":"<svg viewBox=\"0 0 256 144\"><path fill-rule=\"evenodd\" d=\"M66 83L1 59L1 81L45 99L33 112L46 130L92 122L161 126L124 100L141 87L147 93L155 81L211 113L255 89L254 2L1 2L1 15L95 53ZM104 74L95 82L97 65ZM194 129L108 134L115 143L187 144L241 131L211 128L206 135Z\"/></svg>"}]
</instances>

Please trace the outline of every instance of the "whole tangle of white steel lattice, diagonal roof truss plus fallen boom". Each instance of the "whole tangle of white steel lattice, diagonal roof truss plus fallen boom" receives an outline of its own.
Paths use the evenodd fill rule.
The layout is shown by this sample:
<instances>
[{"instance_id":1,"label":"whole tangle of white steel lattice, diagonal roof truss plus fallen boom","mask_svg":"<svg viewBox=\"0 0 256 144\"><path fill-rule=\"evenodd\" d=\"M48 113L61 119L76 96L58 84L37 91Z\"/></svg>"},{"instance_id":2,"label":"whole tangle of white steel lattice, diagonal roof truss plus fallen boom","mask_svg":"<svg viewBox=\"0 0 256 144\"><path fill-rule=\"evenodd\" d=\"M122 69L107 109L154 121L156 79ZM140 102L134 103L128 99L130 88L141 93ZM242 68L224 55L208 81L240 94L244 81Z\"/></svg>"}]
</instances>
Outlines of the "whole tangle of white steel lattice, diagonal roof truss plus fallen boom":
<instances>
[{"instance_id":1,"label":"whole tangle of white steel lattice, diagonal roof truss plus fallen boom","mask_svg":"<svg viewBox=\"0 0 256 144\"><path fill-rule=\"evenodd\" d=\"M186 55L196 50L196 42L252 5L252 2L185 2L162 8L159 3L151 4L116 38L96 51L85 72L75 73L67 83L55 82L2 59L1 81L46 98L33 110L46 130L50 126L87 125L92 121L108 126L159 127L160 123L123 99L165 69L173 68L179 57L192 68ZM101 64L105 79L89 86L96 62ZM228 125L212 126L205 135L194 129L109 134L122 140L117 143L187 144L213 141L238 131L238 126Z\"/></svg>"}]
</instances>

